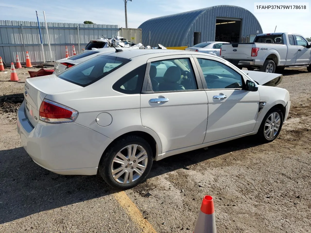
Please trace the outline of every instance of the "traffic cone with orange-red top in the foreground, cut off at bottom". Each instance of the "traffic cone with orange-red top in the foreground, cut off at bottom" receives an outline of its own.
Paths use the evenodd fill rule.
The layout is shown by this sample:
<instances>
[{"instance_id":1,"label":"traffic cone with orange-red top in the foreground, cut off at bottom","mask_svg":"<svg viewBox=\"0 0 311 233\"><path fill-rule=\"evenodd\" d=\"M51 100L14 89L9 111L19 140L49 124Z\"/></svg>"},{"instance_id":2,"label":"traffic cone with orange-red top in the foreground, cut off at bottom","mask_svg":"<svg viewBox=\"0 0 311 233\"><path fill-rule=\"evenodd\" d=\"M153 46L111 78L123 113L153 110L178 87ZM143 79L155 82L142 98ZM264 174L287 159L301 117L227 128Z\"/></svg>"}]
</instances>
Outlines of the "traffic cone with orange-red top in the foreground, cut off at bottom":
<instances>
[{"instance_id":1,"label":"traffic cone with orange-red top in the foreground, cut off at bottom","mask_svg":"<svg viewBox=\"0 0 311 233\"><path fill-rule=\"evenodd\" d=\"M203 198L201 211L193 233L216 233L214 201L211 196L205 196Z\"/></svg>"}]
</instances>

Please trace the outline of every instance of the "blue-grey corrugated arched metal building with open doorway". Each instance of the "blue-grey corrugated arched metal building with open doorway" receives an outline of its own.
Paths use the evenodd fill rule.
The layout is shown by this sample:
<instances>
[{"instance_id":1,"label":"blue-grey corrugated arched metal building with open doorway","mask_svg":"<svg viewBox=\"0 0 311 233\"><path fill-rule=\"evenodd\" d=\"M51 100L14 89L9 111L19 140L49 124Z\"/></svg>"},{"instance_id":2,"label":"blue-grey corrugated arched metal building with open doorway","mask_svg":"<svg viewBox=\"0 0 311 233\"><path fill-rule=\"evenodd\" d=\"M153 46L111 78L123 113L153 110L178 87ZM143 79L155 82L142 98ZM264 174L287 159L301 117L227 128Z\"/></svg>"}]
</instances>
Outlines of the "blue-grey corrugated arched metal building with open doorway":
<instances>
[{"instance_id":1,"label":"blue-grey corrugated arched metal building with open doorway","mask_svg":"<svg viewBox=\"0 0 311 233\"><path fill-rule=\"evenodd\" d=\"M165 47L191 47L204 41L253 42L262 28L248 10L236 6L214 6L153 18L142 23L142 43Z\"/></svg>"}]
</instances>

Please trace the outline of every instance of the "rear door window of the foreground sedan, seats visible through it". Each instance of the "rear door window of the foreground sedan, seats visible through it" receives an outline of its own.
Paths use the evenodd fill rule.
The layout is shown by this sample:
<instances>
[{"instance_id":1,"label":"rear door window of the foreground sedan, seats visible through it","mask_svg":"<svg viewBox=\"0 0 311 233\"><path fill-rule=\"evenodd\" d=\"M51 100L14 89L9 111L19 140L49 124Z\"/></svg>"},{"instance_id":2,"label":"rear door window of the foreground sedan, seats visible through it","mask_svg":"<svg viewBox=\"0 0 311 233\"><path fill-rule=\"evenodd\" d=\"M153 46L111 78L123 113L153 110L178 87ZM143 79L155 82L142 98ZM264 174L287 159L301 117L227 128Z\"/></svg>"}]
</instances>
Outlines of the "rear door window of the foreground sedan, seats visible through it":
<instances>
[{"instance_id":1,"label":"rear door window of the foreground sedan, seats visible through it","mask_svg":"<svg viewBox=\"0 0 311 233\"><path fill-rule=\"evenodd\" d=\"M149 77L155 92L197 89L189 58L151 62Z\"/></svg>"}]
</instances>

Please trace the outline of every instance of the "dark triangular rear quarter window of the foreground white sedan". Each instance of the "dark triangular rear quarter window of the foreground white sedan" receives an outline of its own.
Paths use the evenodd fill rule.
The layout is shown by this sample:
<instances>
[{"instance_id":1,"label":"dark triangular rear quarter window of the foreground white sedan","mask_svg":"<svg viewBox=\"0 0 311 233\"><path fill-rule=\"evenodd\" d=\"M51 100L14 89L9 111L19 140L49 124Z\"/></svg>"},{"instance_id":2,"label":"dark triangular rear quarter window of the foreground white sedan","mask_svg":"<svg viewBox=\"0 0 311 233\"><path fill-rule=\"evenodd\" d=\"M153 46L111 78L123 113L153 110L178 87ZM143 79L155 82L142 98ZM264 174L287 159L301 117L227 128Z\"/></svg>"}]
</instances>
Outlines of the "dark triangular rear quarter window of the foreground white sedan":
<instances>
[{"instance_id":1,"label":"dark triangular rear quarter window of the foreground white sedan","mask_svg":"<svg viewBox=\"0 0 311 233\"><path fill-rule=\"evenodd\" d=\"M112 88L125 94L139 94L142 91L142 82L144 80L146 64L139 66L119 79Z\"/></svg>"}]
</instances>

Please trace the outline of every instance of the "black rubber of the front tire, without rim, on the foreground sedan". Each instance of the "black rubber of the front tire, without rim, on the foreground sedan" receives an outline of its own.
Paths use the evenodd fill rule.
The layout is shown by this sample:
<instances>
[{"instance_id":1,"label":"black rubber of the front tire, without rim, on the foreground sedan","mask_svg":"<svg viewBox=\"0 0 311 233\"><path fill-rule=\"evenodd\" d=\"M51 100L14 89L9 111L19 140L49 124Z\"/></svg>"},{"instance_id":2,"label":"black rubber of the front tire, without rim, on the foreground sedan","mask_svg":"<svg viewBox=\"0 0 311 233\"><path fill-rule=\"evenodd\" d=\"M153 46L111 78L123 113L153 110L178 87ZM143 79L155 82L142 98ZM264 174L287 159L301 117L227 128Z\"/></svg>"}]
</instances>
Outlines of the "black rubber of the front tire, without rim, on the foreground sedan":
<instances>
[{"instance_id":1,"label":"black rubber of the front tire, without rim, on the foreground sedan","mask_svg":"<svg viewBox=\"0 0 311 233\"><path fill-rule=\"evenodd\" d=\"M265 135L265 130L268 130L268 129L269 129L269 126L265 126L265 123L266 123L266 121L268 120L268 118L270 118L271 114L274 113L274 112L276 112L276 113L279 114L279 116L280 116L280 127L279 127L277 133L276 133L273 137L267 138L266 135ZM271 108L271 109L267 112L266 116L263 118L263 120L262 120L262 122L261 122L261 125L260 125L259 130L258 130L258 133L257 133L258 138L259 138L262 142L272 142L274 139L276 139L277 136L278 136L278 135L280 134L280 132L281 132L281 129L282 129L282 126L283 126L283 118L284 118L284 116L283 116L283 113L282 113L281 109L279 109L279 108L277 108L277 107ZM270 119L271 119L271 118L270 118ZM274 133L274 132L273 132L273 133Z\"/></svg>"}]
</instances>

